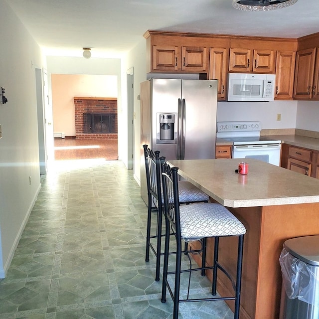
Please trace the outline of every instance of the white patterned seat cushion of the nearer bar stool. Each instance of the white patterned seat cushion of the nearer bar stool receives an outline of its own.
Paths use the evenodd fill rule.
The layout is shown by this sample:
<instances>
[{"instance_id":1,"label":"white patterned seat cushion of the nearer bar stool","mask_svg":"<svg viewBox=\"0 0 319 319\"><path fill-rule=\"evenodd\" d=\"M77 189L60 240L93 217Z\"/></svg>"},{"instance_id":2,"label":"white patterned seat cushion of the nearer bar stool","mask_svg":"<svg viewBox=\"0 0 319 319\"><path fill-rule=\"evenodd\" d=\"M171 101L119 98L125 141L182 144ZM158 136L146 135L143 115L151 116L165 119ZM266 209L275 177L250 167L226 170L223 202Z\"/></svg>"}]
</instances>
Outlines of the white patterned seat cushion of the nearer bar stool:
<instances>
[{"instance_id":1,"label":"white patterned seat cushion of the nearer bar stool","mask_svg":"<svg viewBox=\"0 0 319 319\"><path fill-rule=\"evenodd\" d=\"M195 203L180 206L179 211L181 237L186 241L246 233L245 226L221 204Z\"/></svg>"}]
</instances>

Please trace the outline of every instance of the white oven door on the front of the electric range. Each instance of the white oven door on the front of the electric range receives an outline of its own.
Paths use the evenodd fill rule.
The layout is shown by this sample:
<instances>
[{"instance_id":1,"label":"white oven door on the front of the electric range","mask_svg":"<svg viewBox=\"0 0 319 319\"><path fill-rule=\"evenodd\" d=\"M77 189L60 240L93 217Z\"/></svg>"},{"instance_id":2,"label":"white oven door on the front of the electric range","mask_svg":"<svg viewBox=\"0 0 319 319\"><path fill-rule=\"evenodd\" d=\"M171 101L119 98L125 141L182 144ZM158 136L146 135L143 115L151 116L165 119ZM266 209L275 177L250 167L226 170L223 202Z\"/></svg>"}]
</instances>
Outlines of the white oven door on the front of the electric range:
<instances>
[{"instance_id":1,"label":"white oven door on the front of the electric range","mask_svg":"<svg viewBox=\"0 0 319 319\"><path fill-rule=\"evenodd\" d=\"M279 166L281 144L234 145L233 159L256 159Z\"/></svg>"}]
</instances>

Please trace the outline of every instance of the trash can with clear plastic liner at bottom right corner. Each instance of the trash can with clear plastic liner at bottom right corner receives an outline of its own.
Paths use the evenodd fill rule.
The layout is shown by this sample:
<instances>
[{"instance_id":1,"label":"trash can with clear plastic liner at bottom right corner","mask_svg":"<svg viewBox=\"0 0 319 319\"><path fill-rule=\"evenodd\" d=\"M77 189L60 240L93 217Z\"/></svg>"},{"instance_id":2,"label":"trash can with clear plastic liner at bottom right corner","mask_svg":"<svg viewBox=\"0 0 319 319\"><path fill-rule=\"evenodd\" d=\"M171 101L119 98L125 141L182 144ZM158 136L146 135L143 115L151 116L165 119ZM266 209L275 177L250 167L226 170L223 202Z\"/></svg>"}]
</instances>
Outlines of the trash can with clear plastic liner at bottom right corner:
<instances>
[{"instance_id":1,"label":"trash can with clear plastic liner at bottom right corner","mask_svg":"<svg viewBox=\"0 0 319 319\"><path fill-rule=\"evenodd\" d=\"M319 235L286 240L280 318L319 319Z\"/></svg>"}]
</instances>

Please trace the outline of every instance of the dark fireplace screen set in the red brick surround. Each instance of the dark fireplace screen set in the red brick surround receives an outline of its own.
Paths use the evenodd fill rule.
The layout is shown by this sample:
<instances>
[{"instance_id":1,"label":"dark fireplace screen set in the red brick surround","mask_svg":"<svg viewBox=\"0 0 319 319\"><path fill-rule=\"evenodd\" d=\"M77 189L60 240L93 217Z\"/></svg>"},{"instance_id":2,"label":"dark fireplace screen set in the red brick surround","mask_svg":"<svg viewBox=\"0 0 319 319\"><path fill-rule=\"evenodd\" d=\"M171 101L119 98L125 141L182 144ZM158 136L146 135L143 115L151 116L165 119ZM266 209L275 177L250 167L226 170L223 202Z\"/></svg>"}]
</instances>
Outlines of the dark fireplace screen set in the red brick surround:
<instances>
[{"instance_id":1,"label":"dark fireplace screen set in the red brick surround","mask_svg":"<svg viewBox=\"0 0 319 319\"><path fill-rule=\"evenodd\" d=\"M116 114L83 113L83 117L83 133L118 133Z\"/></svg>"}]
</instances>

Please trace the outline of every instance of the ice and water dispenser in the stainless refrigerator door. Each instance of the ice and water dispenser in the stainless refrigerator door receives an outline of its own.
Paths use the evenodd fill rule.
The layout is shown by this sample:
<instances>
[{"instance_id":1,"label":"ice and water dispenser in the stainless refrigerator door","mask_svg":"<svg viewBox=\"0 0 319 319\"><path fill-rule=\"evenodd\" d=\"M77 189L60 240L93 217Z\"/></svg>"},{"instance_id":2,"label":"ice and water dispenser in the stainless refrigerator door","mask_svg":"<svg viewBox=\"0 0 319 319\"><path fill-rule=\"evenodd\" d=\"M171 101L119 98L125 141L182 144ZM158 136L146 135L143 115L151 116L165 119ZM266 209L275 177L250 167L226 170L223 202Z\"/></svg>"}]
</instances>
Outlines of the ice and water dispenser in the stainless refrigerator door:
<instances>
[{"instance_id":1,"label":"ice and water dispenser in the stainless refrigerator door","mask_svg":"<svg viewBox=\"0 0 319 319\"><path fill-rule=\"evenodd\" d=\"M175 144L177 124L175 113L159 113L157 125L157 144Z\"/></svg>"}]
</instances>

